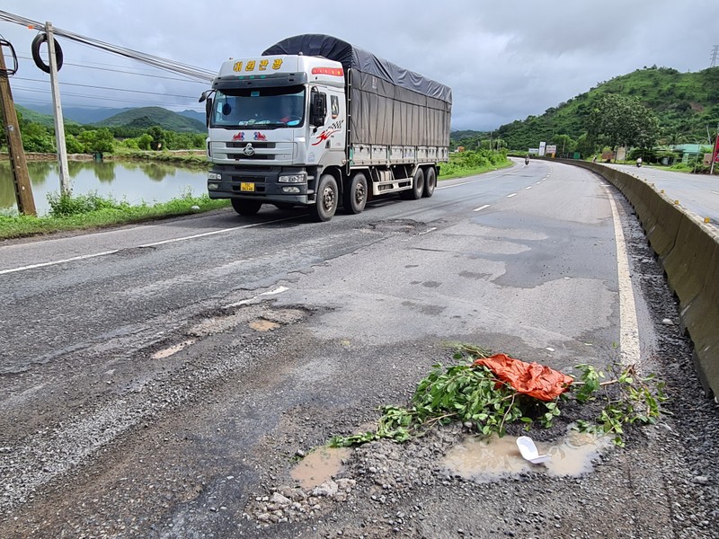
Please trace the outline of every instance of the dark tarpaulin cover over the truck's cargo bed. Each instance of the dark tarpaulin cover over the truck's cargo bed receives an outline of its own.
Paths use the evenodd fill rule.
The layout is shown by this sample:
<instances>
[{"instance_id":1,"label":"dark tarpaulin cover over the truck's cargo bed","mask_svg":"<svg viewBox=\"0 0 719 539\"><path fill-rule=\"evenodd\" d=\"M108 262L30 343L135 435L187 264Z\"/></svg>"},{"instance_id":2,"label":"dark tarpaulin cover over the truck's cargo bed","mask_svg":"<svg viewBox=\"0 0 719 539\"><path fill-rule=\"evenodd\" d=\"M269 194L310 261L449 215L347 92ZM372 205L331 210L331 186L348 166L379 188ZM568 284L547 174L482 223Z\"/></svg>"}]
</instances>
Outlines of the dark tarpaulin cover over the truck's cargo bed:
<instances>
[{"instance_id":1,"label":"dark tarpaulin cover over the truck's cargo bed","mask_svg":"<svg viewBox=\"0 0 719 539\"><path fill-rule=\"evenodd\" d=\"M350 144L448 146L452 90L324 34L281 40L262 56L325 57L340 62L351 84Z\"/></svg>"}]
</instances>

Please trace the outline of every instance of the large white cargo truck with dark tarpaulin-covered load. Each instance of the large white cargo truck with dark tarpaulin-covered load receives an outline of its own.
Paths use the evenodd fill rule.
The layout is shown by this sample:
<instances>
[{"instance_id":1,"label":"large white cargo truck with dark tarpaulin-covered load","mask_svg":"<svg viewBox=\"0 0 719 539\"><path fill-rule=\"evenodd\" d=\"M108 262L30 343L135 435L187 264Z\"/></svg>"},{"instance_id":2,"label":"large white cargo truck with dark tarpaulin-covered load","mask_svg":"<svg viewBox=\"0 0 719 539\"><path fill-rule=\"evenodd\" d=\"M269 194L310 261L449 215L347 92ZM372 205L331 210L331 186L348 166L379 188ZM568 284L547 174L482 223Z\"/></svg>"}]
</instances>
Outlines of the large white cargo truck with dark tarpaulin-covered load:
<instances>
[{"instance_id":1,"label":"large white cargo truck with dark tarpaulin-covered load","mask_svg":"<svg viewBox=\"0 0 719 539\"><path fill-rule=\"evenodd\" d=\"M328 221L340 204L431 197L448 161L451 89L331 36L224 62L205 100L209 198L242 216L271 204Z\"/></svg>"}]
</instances>

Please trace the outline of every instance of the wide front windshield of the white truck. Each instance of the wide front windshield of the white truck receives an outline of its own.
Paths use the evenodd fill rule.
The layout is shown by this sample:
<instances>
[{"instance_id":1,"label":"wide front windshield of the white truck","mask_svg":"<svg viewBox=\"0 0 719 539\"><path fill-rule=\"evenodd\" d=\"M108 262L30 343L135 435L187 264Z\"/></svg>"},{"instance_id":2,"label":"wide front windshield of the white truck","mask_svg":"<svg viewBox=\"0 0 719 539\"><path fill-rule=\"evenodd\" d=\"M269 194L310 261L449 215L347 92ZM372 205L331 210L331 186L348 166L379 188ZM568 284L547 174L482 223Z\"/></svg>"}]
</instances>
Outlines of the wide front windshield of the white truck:
<instances>
[{"instance_id":1,"label":"wide front windshield of the white truck","mask_svg":"<svg viewBox=\"0 0 719 539\"><path fill-rule=\"evenodd\" d=\"M296 128L305 119L305 87L217 90L213 128Z\"/></svg>"}]
</instances>

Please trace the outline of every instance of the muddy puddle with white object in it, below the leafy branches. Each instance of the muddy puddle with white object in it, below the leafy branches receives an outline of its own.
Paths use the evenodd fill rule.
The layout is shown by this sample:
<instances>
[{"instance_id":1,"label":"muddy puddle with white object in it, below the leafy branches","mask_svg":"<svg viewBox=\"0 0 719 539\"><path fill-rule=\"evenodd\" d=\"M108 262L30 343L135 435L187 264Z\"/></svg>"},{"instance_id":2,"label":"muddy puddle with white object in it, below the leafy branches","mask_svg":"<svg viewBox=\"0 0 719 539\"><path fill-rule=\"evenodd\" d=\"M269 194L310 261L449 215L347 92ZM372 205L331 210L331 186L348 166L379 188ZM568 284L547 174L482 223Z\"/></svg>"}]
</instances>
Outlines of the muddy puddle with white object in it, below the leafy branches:
<instances>
[{"instance_id":1,"label":"muddy puddle with white object in it, below the leafy branches","mask_svg":"<svg viewBox=\"0 0 719 539\"><path fill-rule=\"evenodd\" d=\"M452 447L444 458L449 473L475 482L495 482L523 472L552 476L579 476L592 471L592 460L612 445L611 437L595 437L570 430L555 442L537 442L540 455L552 458L543 464L531 464L519 454L517 437L466 437Z\"/></svg>"}]
</instances>

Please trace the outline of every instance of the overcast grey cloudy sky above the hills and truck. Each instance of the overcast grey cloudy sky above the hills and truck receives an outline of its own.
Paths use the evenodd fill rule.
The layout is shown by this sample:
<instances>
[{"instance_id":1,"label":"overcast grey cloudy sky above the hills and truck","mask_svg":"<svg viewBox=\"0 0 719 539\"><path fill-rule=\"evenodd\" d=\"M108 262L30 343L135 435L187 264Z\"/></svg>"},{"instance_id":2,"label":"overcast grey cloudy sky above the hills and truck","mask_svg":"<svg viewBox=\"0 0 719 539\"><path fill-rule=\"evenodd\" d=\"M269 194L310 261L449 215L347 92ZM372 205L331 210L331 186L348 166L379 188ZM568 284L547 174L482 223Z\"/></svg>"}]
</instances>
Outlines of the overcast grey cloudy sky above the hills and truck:
<instances>
[{"instance_id":1,"label":"overcast grey cloudy sky above the hills and truck","mask_svg":"<svg viewBox=\"0 0 719 539\"><path fill-rule=\"evenodd\" d=\"M454 129L539 115L644 66L700 71L719 45L717 0L3 0L0 10L211 71L289 36L330 34L450 86ZM50 100L49 75L31 60L36 34L0 22L20 64L11 79L20 104ZM58 42L63 106L201 110L207 83Z\"/></svg>"}]
</instances>

